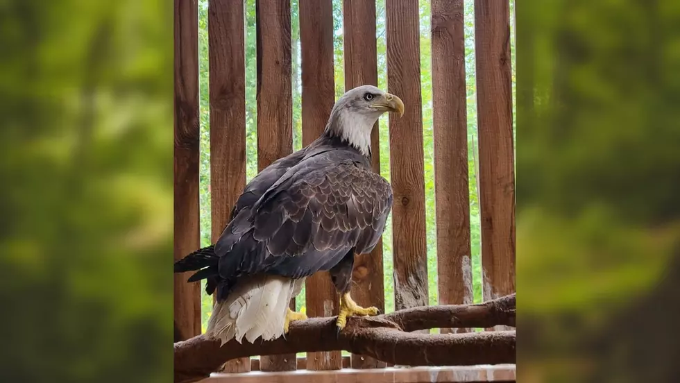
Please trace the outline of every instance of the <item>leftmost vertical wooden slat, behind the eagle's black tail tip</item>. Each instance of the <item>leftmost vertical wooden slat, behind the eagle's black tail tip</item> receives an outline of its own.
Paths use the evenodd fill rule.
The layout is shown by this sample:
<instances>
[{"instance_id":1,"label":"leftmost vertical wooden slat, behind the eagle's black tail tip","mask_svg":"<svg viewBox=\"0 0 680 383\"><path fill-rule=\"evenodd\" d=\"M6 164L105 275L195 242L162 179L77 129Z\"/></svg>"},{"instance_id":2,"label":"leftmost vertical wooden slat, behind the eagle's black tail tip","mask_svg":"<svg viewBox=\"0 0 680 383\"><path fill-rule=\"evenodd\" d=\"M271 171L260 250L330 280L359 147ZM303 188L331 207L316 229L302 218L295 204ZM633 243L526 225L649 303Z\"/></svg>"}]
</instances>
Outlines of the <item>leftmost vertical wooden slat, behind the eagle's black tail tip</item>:
<instances>
[{"instance_id":1,"label":"leftmost vertical wooden slat, behind the eagle's black tail tip","mask_svg":"<svg viewBox=\"0 0 680 383\"><path fill-rule=\"evenodd\" d=\"M175 260L198 249L198 6L174 3L174 250ZM201 334L201 285L174 275L174 316L182 338Z\"/></svg>"}]
</instances>

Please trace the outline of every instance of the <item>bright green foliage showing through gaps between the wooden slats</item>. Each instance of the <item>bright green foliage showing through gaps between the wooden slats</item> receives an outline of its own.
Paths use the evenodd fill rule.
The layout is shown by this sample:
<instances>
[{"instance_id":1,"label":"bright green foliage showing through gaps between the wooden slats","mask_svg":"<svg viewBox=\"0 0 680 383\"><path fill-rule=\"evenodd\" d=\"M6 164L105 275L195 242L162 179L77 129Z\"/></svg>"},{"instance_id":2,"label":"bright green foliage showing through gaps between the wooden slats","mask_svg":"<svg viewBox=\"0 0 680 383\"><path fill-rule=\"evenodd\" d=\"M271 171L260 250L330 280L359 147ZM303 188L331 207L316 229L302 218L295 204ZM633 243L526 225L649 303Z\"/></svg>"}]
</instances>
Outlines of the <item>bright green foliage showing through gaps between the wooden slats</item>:
<instances>
[{"instance_id":1,"label":"bright green foliage showing through gaps between the wooden slats","mask_svg":"<svg viewBox=\"0 0 680 383\"><path fill-rule=\"evenodd\" d=\"M199 65L201 66L201 243L207 246L210 241L210 99L208 68L208 35L207 35L207 0L199 0ZM514 1L511 1L511 15ZM256 67L255 67L255 0L246 0L246 158L247 178L257 174L257 108L255 103ZM434 142L432 130L432 54L430 40L430 1L419 0L420 13L420 81L423 97L423 138L425 152L425 216L427 219L427 271L429 277L430 304L437 303L437 271L436 271L436 227L434 205ZM387 62L385 41L385 2L377 0L377 67L378 86L387 89ZM482 300L481 271L481 236L479 221L479 201L477 197L477 178L475 161L477 155L477 94L475 88L475 24L474 3L464 3L465 22L465 63L468 114L468 164L470 172L470 222L473 261L473 293L475 302ZM343 74L343 15L342 0L333 0L334 24L334 73L336 99L344 93ZM511 23L513 18L511 17ZM514 26L511 26L514 35ZM293 83L293 124L294 150L302 148L301 119L301 65L300 65L300 24L298 17L298 0L291 0L291 39L293 49L292 83ZM514 38L511 39L511 50L514 59ZM514 73L514 65L513 73ZM513 74L514 90L514 74ZM380 119L380 172L390 179L389 170L389 129L387 117ZM384 233L384 286L385 307L388 312L394 309L393 292L393 259L391 219ZM298 309L305 309L305 292L296 299ZM212 297L203 294L203 327L212 311Z\"/></svg>"}]
</instances>

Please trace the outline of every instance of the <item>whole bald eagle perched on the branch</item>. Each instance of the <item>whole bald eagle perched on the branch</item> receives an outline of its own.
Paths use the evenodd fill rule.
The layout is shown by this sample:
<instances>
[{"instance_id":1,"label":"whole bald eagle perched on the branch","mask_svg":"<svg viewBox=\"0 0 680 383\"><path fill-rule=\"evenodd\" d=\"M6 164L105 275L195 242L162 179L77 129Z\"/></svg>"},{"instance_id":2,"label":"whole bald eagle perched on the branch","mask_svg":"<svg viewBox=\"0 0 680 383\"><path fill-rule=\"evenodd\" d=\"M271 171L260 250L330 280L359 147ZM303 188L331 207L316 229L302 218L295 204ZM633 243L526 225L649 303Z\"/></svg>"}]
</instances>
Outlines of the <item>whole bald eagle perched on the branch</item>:
<instances>
[{"instance_id":1,"label":"whole bald eagle perched on the branch","mask_svg":"<svg viewBox=\"0 0 680 383\"><path fill-rule=\"evenodd\" d=\"M389 182L371 169L371 130L384 112L404 113L393 94L364 85L335 103L321 137L248 183L213 246L175 263L216 293L206 335L226 343L276 339L307 318L289 309L306 277L329 271L339 291L341 330L375 315L350 297L355 254L377 244L392 207Z\"/></svg>"}]
</instances>

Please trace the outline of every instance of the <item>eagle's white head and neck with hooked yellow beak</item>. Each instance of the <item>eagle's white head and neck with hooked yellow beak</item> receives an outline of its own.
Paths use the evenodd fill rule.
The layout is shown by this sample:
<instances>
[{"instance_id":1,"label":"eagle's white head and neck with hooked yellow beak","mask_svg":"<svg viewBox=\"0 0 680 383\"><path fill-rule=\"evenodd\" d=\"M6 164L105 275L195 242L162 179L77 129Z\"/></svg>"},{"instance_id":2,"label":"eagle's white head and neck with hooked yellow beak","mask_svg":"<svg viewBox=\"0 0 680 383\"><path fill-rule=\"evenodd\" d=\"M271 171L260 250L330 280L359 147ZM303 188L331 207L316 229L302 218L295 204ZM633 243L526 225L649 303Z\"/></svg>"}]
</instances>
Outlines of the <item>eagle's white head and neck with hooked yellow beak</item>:
<instances>
[{"instance_id":1,"label":"eagle's white head and neck with hooked yellow beak","mask_svg":"<svg viewBox=\"0 0 680 383\"><path fill-rule=\"evenodd\" d=\"M335 103L326 133L340 137L363 155L371 154L371 130L384 112L404 114L404 103L393 94L373 85L362 85L348 90Z\"/></svg>"}]
</instances>

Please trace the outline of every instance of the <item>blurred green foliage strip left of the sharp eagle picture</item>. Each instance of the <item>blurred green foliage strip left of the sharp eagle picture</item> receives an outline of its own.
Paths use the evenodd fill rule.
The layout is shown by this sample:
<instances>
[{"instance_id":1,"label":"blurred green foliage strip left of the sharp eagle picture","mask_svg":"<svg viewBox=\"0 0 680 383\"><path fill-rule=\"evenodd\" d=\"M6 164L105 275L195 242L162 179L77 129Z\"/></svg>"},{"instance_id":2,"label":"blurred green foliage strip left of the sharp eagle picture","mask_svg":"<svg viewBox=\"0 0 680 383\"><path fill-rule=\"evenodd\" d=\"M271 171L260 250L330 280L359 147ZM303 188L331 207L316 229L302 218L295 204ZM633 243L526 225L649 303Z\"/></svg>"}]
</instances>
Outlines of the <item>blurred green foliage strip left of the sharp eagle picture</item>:
<instances>
[{"instance_id":1,"label":"blurred green foliage strip left of the sharp eagle picture","mask_svg":"<svg viewBox=\"0 0 680 383\"><path fill-rule=\"evenodd\" d=\"M172 379L172 3L0 1L0 382Z\"/></svg>"}]
</instances>

